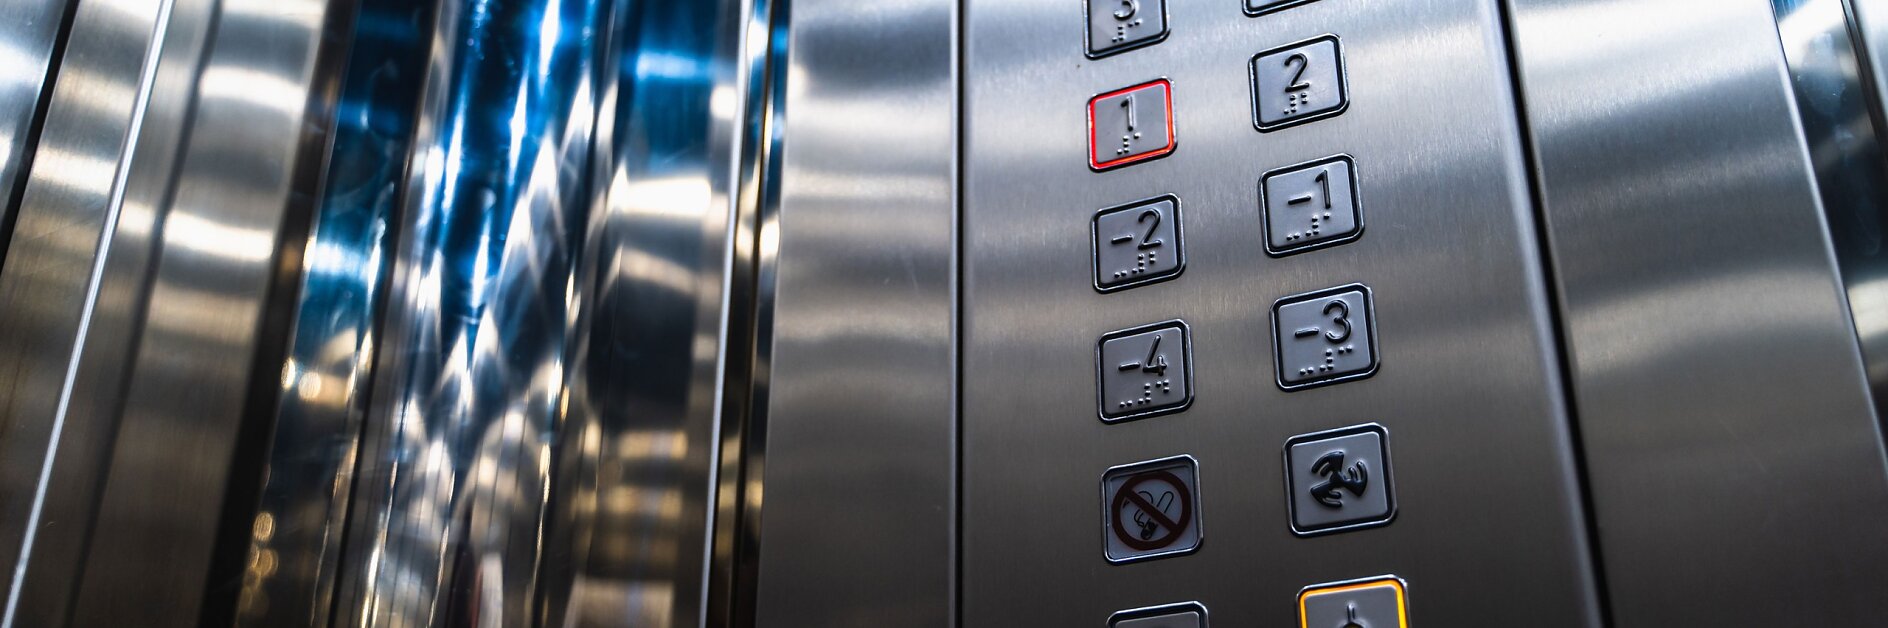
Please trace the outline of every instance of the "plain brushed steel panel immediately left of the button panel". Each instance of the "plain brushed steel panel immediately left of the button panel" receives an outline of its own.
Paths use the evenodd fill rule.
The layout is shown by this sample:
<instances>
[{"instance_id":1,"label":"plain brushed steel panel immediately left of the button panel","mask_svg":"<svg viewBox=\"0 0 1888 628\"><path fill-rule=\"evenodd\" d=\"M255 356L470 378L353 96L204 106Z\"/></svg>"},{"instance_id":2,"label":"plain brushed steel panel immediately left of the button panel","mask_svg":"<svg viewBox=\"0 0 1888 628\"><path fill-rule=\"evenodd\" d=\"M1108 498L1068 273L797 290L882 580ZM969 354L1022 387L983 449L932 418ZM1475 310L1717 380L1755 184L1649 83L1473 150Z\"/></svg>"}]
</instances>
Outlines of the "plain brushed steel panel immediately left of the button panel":
<instances>
[{"instance_id":1,"label":"plain brushed steel panel immediately left of the button panel","mask_svg":"<svg viewBox=\"0 0 1888 628\"><path fill-rule=\"evenodd\" d=\"M791 4L757 626L957 624L955 13Z\"/></svg>"}]
</instances>

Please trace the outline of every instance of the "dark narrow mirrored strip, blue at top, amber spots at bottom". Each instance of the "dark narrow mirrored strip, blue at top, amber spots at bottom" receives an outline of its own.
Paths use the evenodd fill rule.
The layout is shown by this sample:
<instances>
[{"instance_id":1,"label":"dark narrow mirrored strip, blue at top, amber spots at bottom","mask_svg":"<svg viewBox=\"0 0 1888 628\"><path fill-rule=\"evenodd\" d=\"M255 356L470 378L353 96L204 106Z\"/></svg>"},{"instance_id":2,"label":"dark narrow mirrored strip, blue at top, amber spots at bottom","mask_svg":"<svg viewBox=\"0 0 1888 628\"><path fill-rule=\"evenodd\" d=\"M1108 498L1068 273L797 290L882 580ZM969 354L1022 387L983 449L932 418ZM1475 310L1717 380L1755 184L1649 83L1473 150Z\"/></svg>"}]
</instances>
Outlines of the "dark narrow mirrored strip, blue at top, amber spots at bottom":
<instances>
[{"instance_id":1,"label":"dark narrow mirrored strip, blue at top, amber spots at bottom","mask_svg":"<svg viewBox=\"0 0 1888 628\"><path fill-rule=\"evenodd\" d=\"M281 400L262 443L266 481L244 530L242 626L329 624L432 4L370 2L336 36L351 38L351 53L321 204L302 243Z\"/></svg>"}]
</instances>

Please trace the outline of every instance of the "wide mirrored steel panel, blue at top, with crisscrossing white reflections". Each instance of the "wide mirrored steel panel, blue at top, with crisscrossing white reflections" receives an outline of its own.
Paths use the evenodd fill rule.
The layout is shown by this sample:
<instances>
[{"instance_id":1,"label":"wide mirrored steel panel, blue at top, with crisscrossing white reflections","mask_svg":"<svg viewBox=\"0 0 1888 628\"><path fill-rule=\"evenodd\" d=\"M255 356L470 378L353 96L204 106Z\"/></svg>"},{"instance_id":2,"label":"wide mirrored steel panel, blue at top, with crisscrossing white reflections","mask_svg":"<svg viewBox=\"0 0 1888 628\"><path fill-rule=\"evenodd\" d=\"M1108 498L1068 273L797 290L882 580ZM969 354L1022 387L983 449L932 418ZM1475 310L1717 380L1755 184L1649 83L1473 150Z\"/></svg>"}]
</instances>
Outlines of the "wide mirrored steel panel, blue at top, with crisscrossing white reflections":
<instances>
[{"instance_id":1,"label":"wide mirrored steel panel, blue at top, with crisscrossing white reflections","mask_svg":"<svg viewBox=\"0 0 1888 628\"><path fill-rule=\"evenodd\" d=\"M340 624L532 619L566 407L602 9L438 8Z\"/></svg>"}]
</instances>

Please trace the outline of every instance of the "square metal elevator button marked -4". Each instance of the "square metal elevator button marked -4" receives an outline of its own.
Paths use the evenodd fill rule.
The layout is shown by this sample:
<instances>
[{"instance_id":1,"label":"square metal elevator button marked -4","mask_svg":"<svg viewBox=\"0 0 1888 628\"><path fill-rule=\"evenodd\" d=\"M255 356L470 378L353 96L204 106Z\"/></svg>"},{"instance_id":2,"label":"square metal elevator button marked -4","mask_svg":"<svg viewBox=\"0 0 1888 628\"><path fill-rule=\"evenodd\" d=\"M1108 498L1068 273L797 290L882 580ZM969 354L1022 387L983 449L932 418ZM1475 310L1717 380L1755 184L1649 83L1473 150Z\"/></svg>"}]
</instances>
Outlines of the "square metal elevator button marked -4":
<instances>
[{"instance_id":1,"label":"square metal elevator button marked -4","mask_svg":"<svg viewBox=\"0 0 1888 628\"><path fill-rule=\"evenodd\" d=\"M1193 404L1193 343L1180 321L1101 336L1101 421L1174 413Z\"/></svg>"}]
</instances>

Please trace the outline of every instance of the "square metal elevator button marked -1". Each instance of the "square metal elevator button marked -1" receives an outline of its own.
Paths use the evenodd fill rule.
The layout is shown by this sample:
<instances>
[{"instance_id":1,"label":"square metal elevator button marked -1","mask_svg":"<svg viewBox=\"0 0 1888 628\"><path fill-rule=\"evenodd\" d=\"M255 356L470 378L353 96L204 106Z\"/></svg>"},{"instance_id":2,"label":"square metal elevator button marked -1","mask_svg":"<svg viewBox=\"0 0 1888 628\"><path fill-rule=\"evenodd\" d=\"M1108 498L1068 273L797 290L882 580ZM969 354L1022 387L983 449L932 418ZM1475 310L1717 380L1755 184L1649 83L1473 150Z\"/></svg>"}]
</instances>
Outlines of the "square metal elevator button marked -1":
<instances>
[{"instance_id":1,"label":"square metal elevator button marked -1","mask_svg":"<svg viewBox=\"0 0 1888 628\"><path fill-rule=\"evenodd\" d=\"M1265 253L1286 255L1363 234L1357 209L1357 166L1350 155L1267 172L1259 177Z\"/></svg>"}]
</instances>

